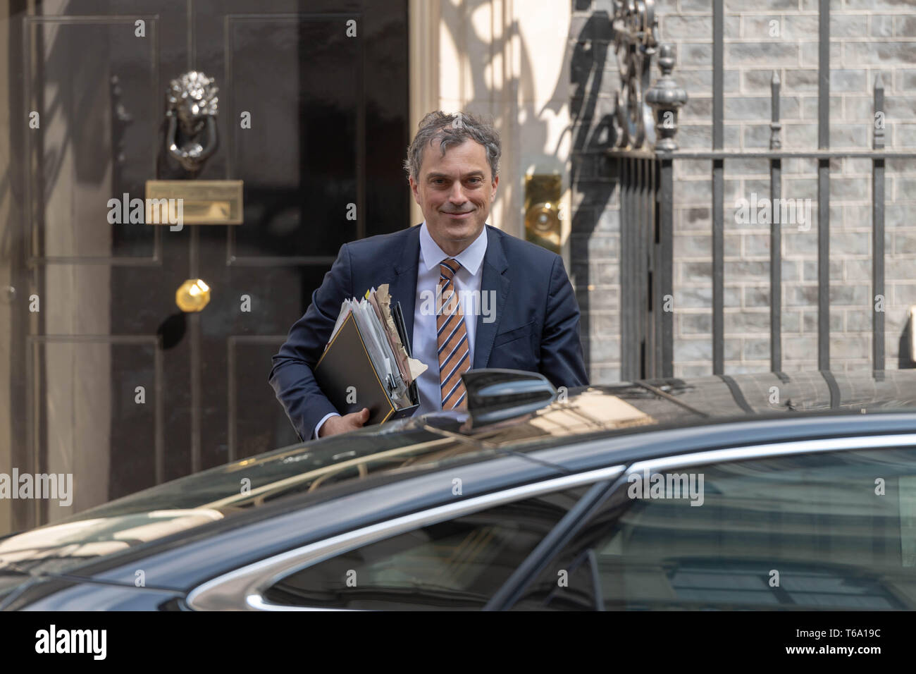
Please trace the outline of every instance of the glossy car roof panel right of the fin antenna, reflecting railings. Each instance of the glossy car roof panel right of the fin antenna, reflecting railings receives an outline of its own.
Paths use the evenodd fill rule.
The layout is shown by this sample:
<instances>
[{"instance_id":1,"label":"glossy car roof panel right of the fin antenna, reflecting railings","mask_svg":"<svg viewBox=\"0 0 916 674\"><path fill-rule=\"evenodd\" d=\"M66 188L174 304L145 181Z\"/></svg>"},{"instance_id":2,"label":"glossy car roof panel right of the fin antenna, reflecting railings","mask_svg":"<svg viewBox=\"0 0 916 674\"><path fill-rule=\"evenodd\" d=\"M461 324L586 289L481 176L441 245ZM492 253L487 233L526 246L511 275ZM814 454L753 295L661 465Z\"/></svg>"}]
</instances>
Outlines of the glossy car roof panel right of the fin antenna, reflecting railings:
<instances>
[{"instance_id":1,"label":"glossy car roof panel right of the fin antenna, reflecting railings","mask_svg":"<svg viewBox=\"0 0 916 674\"><path fill-rule=\"evenodd\" d=\"M517 451L590 435L614 436L650 428L752 421L799 414L916 412L916 370L786 374L747 373L694 379L657 379L573 389L533 414L474 428L467 419L439 425L484 447ZM564 439L565 438L565 439Z\"/></svg>"}]
</instances>

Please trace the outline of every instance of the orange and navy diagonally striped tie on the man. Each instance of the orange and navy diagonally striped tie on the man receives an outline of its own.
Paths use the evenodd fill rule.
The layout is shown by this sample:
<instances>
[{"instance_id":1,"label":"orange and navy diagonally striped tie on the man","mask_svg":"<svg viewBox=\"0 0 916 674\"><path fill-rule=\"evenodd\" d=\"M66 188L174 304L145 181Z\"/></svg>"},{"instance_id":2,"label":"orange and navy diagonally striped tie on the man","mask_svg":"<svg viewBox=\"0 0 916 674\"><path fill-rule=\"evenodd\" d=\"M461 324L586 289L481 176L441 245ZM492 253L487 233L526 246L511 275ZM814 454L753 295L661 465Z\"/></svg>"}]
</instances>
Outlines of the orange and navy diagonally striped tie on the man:
<instances>
[{"instance_id":1,"label":"orange and navy diagonally striped tie on the man","mask_svg":"<svg viewBox=\"0 0 916 674\"><path fill-rule=\"evenodd\" d=\"M436 329L439 344L439 384L442 393L442 409L451 410L465 407L463 372L471 369L468 359L467 328L464 315L455 293L455 272L461 268L458 260L447 258L439 263L439 285L442 293L441 309L436 315Z\"/></svg>"}]
</instances>

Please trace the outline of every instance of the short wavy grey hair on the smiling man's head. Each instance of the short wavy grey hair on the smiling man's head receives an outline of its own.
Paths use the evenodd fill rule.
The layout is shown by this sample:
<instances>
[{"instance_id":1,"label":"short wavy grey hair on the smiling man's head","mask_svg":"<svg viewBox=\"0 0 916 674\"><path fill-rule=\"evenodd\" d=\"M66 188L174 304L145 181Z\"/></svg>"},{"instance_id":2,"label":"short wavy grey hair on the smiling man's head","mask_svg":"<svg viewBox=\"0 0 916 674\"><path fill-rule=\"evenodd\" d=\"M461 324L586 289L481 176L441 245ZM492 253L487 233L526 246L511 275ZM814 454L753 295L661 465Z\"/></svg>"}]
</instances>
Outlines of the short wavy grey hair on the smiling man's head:
<instances>
[{"instance_id":1,"label":"short wavy grey hair on the smiling man's head","mask_svg":"<svg viewBox=\"0 0 916 674\"><path fill-rule=\"evenodd\" d=\"M436 110L420 120L417 135L413 137L404 160L404 171L415 181L420 180L420 162L423 150L435 140L439 140L442 157L445 150L453 145L461 145L470 138L484 146L486 157L490 161L490 179L499 174L499 156L502 148L499 143L499 132L492 124L486 124L477 117L459 112L454 115Z\"/></svg>"}]
</instances>

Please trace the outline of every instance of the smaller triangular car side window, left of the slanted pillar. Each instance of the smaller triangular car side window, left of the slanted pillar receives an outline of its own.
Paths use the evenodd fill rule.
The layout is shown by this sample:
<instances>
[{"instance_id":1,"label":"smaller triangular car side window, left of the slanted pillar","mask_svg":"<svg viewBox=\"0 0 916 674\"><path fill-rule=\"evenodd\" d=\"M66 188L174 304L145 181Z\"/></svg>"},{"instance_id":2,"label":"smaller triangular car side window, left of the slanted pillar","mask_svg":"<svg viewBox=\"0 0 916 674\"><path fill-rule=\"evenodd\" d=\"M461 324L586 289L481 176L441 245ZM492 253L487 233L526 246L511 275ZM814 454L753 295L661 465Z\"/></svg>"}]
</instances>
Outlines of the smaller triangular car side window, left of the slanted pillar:
<instances>
[{"instance_id":1,"label":"smaller triangular car side window, left of the slanted pillar","mask_svg":"<svg viewBox=\"0 0 916 674\"><path fill-rule=\"evenodd\" d=\"M591 485L506 503L370 543L279 580L286 606L477 610Z\"/></svg>"}]
</instances>

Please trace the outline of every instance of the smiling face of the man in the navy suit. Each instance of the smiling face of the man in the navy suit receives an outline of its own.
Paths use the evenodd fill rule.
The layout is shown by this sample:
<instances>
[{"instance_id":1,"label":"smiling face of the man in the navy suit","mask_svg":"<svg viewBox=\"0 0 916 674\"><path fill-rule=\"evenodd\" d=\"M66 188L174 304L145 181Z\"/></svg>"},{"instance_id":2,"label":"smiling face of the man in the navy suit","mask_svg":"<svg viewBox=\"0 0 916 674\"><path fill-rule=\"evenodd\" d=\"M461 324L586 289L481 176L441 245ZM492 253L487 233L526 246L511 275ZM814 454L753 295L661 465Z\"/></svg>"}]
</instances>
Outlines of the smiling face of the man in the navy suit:
<instances>
[{"instance_id":1,"label":"smiling face of the man in the navy suit","mask_svg":"<svg viewBox=\"0 0 916 674\"><path fill-rule=\"evenodd\" d=\"M444 157L438 139L423 149L420 182L411 176L410 189L439 248L454 256L474 242L490 215L498 182L484 146L474 140L445 150Z\"/></svg>"}]
</instances>

